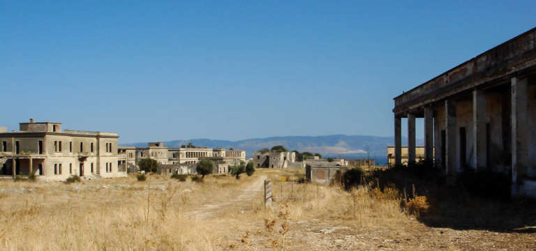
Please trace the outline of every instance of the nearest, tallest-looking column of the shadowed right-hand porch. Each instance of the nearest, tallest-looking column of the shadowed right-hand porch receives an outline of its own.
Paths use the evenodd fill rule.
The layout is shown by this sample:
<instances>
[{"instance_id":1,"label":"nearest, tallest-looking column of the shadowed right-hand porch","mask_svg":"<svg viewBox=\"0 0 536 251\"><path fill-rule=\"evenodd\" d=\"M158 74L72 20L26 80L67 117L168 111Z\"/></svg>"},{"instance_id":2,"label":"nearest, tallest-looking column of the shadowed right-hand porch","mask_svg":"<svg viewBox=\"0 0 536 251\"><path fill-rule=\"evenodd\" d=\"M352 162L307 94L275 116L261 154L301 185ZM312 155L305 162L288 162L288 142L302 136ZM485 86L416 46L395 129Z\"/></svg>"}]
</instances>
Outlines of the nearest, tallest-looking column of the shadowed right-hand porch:
<instances>
[{"instance_id":1,"label":"nearest, tallest-looking column of the shadowed right-hand porch","mask_svg":"<svg viewBox=\"0 0 536 251\"><path fill-rule=\"evenodd\" d=\"M512 77L512 184L528 166L527 79Z\"/></svg>"}]
</instances>

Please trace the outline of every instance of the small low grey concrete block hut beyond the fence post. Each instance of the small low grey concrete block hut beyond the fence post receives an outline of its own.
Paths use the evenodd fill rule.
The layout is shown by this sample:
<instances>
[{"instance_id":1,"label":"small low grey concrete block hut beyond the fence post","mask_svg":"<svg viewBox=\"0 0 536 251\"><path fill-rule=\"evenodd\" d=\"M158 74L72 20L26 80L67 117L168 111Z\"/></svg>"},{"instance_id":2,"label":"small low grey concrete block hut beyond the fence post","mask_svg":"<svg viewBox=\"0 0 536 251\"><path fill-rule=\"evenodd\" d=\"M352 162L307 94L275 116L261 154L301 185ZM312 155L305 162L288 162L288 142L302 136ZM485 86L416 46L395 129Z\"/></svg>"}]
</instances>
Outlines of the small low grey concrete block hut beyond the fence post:
<instances>
[{"instance_id":1,"label":"small low grey concrete block hut beyond the fence post","mask_svg":"<svg viewBox=\"0 0 536 251\"><path fill-rule=\"evenodd\" d=\"M305 167L305 178L308 182L333 184L341 179L348 167L342 167L336 162L308 163Z\"/></svg>"}]
</instances>

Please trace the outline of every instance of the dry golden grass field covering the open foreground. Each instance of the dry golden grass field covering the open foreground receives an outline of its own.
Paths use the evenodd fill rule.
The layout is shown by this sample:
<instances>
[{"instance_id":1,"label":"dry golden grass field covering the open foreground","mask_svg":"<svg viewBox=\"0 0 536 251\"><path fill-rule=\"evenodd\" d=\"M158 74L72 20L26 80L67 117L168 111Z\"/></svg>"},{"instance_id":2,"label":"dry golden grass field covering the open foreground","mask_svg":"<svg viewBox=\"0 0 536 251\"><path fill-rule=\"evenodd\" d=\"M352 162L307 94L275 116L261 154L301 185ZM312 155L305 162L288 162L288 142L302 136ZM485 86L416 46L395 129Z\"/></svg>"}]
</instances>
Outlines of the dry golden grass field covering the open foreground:
<instances>
[{"instance_id":1,"label":"dry golden grass field covering the open foreground","mask_svg":"<svg viewBox=\"0 0 536 251\"><path fill-rule=\"evenodd\" d=\"M0 250L371 250L379 241L413 239L432 229L401 210L394 188L346 192L278 182L302 174L258 169L240 180L207 176L203 183L158 175L144 182L135 176L73 184L0 181ZM262 202L266 177L274 181L273 208ZM371 233L376 237L366 237ZM479 243L427 238L429 245L415 238L393 247L479 249ZM534 247L533 235L521 238L533 241L524 247Z\"/></svg>"}]
</instances>

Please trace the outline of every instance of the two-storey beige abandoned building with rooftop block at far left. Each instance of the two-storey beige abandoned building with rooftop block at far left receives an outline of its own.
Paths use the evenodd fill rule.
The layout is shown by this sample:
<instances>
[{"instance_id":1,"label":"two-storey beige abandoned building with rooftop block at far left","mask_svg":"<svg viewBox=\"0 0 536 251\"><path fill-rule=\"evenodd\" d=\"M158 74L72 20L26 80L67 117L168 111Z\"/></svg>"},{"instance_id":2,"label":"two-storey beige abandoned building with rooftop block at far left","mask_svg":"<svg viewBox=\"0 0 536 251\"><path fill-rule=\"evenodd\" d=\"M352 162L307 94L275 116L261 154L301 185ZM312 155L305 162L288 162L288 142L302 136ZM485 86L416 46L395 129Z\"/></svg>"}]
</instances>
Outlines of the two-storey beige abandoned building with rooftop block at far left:
<instances>
[{"instance_id":1,"label":"two-storey beige abandoned building with rooftop block at far left","mask_svg":"<svg viewBox=\"0 0 536 251\"><path fill-rule=\"evenodd\" d=\"M117 155L117 133L61 130L61 123L20 123L0 130L0 175L35 174L39 180L126 176Z\"/></svg>"}]
</instances>

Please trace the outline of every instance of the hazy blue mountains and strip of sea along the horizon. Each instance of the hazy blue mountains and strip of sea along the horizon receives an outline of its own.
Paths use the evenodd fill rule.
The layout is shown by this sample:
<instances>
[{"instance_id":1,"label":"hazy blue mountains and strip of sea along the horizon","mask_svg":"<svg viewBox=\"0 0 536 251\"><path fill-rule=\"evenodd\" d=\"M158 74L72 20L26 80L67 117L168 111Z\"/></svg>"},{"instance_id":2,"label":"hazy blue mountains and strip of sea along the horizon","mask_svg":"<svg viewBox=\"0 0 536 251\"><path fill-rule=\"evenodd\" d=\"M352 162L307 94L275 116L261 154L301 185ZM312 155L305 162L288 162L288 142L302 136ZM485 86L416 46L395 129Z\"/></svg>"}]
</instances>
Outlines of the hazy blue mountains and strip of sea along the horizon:
<instances>
[{"instance_id":1,"label":"hazy blue mountains and strip of sea along the horizon","mask_svg":"<svg viewBox=\"0 0 536 251\"><path fill-rule=\"evenodd\" d=\"M246 151L246 156L252 157L253 152L263 148L270 149L272 146L285 146L289 151L309 151L320 153L322 156L342 155L343 158L366 158L370 153L375 158L377 165L387 164L387 146L394 144L393 137L378 137L365 135L327 135L327 136L286 136L267 137L262 139L243 139L237 141L218 139L189 139L172 140L164 142L168 147L179 147L192 142L195 146L207 146L209 148L223 147ZM407 144L408 139L402 137L402 144ZM417 145L422 140L417 140ZM121 144L123 146L147 146L147 142Z\"/></svg>"}]
</instances>

